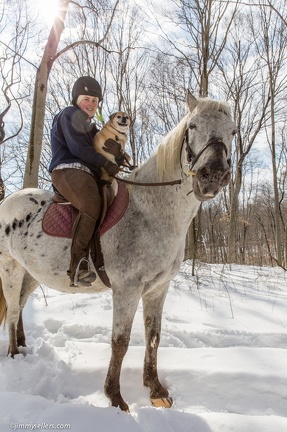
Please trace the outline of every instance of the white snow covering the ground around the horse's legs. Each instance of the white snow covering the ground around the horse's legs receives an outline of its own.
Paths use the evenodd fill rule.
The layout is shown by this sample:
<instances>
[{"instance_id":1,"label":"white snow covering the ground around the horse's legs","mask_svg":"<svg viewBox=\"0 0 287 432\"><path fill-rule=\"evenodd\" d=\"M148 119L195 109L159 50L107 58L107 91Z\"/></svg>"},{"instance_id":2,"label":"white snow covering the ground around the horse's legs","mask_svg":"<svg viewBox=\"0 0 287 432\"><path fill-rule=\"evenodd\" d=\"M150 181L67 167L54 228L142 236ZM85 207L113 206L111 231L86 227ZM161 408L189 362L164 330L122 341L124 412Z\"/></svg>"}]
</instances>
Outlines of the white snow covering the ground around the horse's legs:
<instances>
[{"instance_id":1,"label":"white snow covering the ground around the horse's legs","mask_svg":"<svg viewBox=\"0 0 287 432\"><path fill-rule=\"evenodd\" d=\"M121 376L130 414L110 407L111 292L31 296L27 348L6 356L0 331L0 431L286 432L287 286L280 268L182 264L166 299L154 408L142 385L142 307Z\"/></svg>"}]
</instances>

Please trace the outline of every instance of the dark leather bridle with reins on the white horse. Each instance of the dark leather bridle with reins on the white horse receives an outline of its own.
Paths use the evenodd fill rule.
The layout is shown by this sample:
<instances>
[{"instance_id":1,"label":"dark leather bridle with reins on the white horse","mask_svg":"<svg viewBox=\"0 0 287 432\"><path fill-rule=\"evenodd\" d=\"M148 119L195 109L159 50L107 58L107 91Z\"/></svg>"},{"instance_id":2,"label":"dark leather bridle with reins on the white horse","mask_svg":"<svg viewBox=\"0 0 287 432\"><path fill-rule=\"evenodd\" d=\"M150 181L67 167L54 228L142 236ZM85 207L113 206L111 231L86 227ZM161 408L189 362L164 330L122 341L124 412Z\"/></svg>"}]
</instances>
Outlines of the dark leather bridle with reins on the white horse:
<instances>
[{"instance_id":1,"label":"dark leather bridle with reins on the white horse","mask_svg":"<svg viewBox=\"0 0 287 432\"><path fill-rule=\"evenodd\" d=\"M183 137L183 140L182 140L181 151L180 151L180 154L182 154L182 150L183 150L183 147L185 145L185 151L187 153L187 161L189 162L189 170L188 170L187 174L185 174L184 171L183 171L181 160L180 160L180 164L181 164L181 171L185 174L186 177L188 177L190 175L191 176L195 176L196 175L196 171L193 170L196 162L198 161L198 159L200 158L200 156L205 152L205 150L207 150L212 145L214 145L214 144L216 144L217 146L221 145L223 147L223 149L225 150L226 156L228 154L228 150L227 150L226 144L221 139L212 138L194 156L191 148L188 145L188 130L189 129L186 129L186 131L184 132L184 137ZM117 177L117 176L114 176L114 178L116 180L118 180L119 182L127 183L127 184L130 184L130 185L135 185L135 186L153 186L153 187L181 185L182 182L185 180L185 179L181 178L181 179L178 179L178 180L172 180L172 181L167 181L167 182L144 183L144 182L136 182L136 181L132 181L132 180L123 179L123 178L120 178L120 177Z\"/></svg>"}]
</instances>

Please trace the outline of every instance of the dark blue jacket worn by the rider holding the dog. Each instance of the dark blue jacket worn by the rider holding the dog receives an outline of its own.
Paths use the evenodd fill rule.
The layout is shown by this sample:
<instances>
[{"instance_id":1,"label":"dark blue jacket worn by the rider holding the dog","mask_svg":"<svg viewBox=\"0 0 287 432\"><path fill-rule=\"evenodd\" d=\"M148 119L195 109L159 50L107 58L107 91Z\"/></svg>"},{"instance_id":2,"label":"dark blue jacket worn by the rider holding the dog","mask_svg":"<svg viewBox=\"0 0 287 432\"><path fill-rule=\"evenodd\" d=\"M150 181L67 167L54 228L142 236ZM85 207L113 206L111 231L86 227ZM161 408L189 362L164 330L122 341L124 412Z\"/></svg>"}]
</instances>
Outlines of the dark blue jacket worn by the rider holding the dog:
<instances>
[{"instance_id":1,"label":"dark blue jacket worn by the rider holding the dog","mask_svg":"<svg viewBox=\"0 0 287 432\"><path fill-rule=\"evenodd\" d=\"M93 138L98 132L87 122L88 116L80 108L68 106L54 118L51 129L52 160L49 171L62 163L80 162L95 173L107 159L93 148Z\"/></svg>"}]
</instances>

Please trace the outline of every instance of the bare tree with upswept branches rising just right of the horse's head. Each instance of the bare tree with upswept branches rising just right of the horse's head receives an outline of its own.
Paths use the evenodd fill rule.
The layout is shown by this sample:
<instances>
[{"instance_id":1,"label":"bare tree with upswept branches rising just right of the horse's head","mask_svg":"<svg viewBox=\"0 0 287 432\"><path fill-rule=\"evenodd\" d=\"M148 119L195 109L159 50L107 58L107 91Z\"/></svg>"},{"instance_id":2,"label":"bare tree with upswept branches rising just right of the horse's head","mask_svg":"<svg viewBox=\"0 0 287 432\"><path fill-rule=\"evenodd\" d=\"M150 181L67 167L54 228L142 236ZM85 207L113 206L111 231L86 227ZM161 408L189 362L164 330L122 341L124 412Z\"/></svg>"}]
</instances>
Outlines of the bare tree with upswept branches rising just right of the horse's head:
<instances>
[{"instance_id":1,"label":"bare tree with upswept branches rising just right of the horse's head","mask_svg":"<svg viewBox=\"0 0 287 432\"><path fill-rule=\"evenodd\" d=\"M229 36L225 55L220 59L219 67L223 77L223 85L218 86L225 92L234 109L237 125L235 139L233 172L229 188L229 234L228 262L236 262L239 242L239 197L242 188L244 165L258 138L263 125L267 121L267 109L270 98L266 72L260 57L256 55L254 38L260 38L260 33L254 35L254 26L248 23L248 12L239 13L234 20L234 26ZM250 59L253 59L250 61ZM267 91L266 91L267 88Z\"/></svg>"}]
</instances>

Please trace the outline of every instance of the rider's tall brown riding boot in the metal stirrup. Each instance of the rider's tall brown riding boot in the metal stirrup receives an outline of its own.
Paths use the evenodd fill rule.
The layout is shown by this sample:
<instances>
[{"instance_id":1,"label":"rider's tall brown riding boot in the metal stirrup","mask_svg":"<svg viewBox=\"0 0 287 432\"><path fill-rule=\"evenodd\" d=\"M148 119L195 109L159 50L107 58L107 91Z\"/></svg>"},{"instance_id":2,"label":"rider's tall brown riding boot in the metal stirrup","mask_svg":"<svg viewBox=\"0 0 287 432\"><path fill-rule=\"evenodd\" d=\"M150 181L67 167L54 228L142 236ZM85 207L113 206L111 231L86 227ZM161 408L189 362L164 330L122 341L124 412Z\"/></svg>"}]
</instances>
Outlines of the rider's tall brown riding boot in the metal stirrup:
<instances>
[{"instance_id":1,"label":"rider's tall brown riding boot in the metal stirrup","mask_svg":"<svg viewBox=\"0 0 287 432\"><path fill-rule=\"evenodd\" d=\"M88 260L89 243L93 236L96 220L87 213L79 213L72 232L71 263L68 275L71 279L71 286L91 285L97 275L90 270Z\"/></svg>"}]
</instances>

